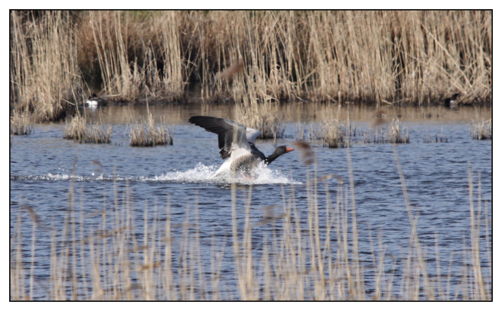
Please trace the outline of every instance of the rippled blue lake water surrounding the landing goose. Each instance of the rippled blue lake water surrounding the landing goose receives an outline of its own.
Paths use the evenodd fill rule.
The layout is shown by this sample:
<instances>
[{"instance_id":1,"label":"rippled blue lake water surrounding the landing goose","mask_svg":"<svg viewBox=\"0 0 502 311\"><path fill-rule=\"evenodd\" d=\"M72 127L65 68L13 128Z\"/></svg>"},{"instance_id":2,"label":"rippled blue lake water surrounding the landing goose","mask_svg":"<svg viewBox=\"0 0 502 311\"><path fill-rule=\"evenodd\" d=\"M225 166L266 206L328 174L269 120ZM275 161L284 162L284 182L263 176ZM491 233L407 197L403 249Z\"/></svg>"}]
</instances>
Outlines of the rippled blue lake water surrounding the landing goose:
<instances>
[{"instance_id":1,"label":"rippled blue lake water surrounding the landing goose","mask_svg":"<svg viewBox=\"0 0 502 311\"><path fill-rule=\"evenodd\" d=\"M261 299L271 296L281 297L278 292L280 286L267 283L266 273L270 272L274 275L278 272L273 268L269 272L263 269L263 262L265 262L263 254L270 253L273 260L285 251L281 248L283 244L280 242L275 246L272 243L270 247L267 243L273 241L275 237L278 239L277 236L286 230L287 225L282 214L284 206L291 208L292 202L296 208L296 214L291 215L294 219L292 222L301 227L301 234L305 234L305 249L308 251L312 248L309 246L311 244L309 244L308 232L312 232L309 229L311 226L309 217L317 219L320 231L314 232L313 236L314 239L316 236L320 239L319 249L322 248L323 253L320 260L326 262L326 265L329 258L337 256L337 251L343 244L340 244L341 235L339 235L342 233L336 232L336 224L331 223L331 220L335 218L330 218L329 210L335 210L337 204L344 206L344 219L348 226L338 229L340 232L345 230L346 245L352 251L355 239L352 234L355 228L352 220L356 219L358 240L356 249L363 275L361 276L363 284L360 285L362 287L359 287L359 290L364 292L364 298L374 298L375 294L380 294L381 289L378 287L382 286L387 289L388 284L393 285L388 290L392 299L409 298L408 291L415 287L406 285L404 276L408 275L409 279L415 276L419 282L416 288L421 288L420 284L424 282L424 279L420 271L418 274L413 269L410 271L407 258L422 256L422 259L417 259L418 261L413 259L412 262L417 264L424 262L426 267L422 268L427 268L431 279L436 279L436 284L443 284L443 291L450 286L443 298L473 299L476 296L469 296L468 293L474 291L475 276L467 272L471 271L472 265L469 258L474 256L471 252L473 242L471 240L469 168L473 175L474 217L476 223L480 224L477 226L481 241L479 244L480 270L485 282L491 278L491 255L486 252L486 249L491 247L492 142L491 140L473 140L469 132L469 122L472 120L491 119L491 106L461 107L455 110L442 106L382 108L389 121L399 118L402 125L408 129L409 144L364 143L359 134L347 138L351 141L350 148L324 148L320 142L311 141L311 149L316 158L317 176L329 177L331 176L329 174L340 176L343 179L343 184L340 185L338 179L328 177L319 181L318 184L312 182L314 167L304 163L301 158L302 150L295 147L298 129L308 130L310 124L317 126L323 114L331 110L333 114L340 116L342 121L347 120L348 117L350 123L355 126L356 133L364 131L372 133L374 128L371 125L374 122L376 109L356 105L345 105L338 109L337 105L284 104L279 107L285 126L284 137L277 139L276 142L257 140L256 145L266 156L270 155L278 145L287 145L296 150L279 157L270 167L262 168L257 173L256 180L239 179L235 187L231 186L229 180L214 181L209 178L223 162L218 154L217 135L188 123L188 118L195 115L210 115L232 120L234 118L232 106L170 104L152 105L149 109L157 122L162 117L166 124L174 126L172 146L129 146L127 134L129 124L145 118L146 107L144 106L103 108L102 120L105 124L113 124L111 144L80 144L63 139L64 123L38 124L34 126L34 133L31 135L14 137L10 151L11 253L16 254L16 245L20 243L19 253L25 269L25 276L21 278L25 279L25 286L29 287L32 264L30 215L33 216L33 213L27 212L30 208L26 206L30 206L38 217L33 263L34 299L54 298L55 289L49 284L52 282L51 275L56 273L52 271L54 263L58 261L54 261L51 253L57 253L58 256L63 256L65 251L71 254L81 253L80 246L77 246L75 250L68 246L70 245L67 244L68 242L64 242L65 238L71 236L72 224L78 232L83 230L84 236L90 236L100 229L116 228L116 224L119 223L117 219L126 219L126 217L130 217L135 226L136 233L134 234L139 244L145 242L145 229L148 229L150 234L160 232L159 238L147 236L146 244L148 245L163 243L162 232L165 230L166 219L170 218L172 255L175 258L172 262L173 278L176 280L174 282L181 284L182 281L187 281L189 276L200 278L201 275L206 275L204 273L207 273L207 279L211 279L210 275L214 274L210 273L214 268L213 261L217 261L220 264L219 286L225 288L217 297L238 299L239 290L231 242L233 234L232 189L235 193L234 206L238 229L235 234L245 241L246 232L252 232L248 237L251 243L248 246L249 256L255 260L252 261L252 265L257 271L265 271L263 275L255 275L259 279L256 281L258 289L255 294ZM98 119L95 110L86 109L85 113L91 120ZM439 139L438 142L436 138ZM406 181L409 206L416 217L416 231L421 245L420 254L410 252L410 243L413 243L410 240L413 226L403 195L393 148L399 155ZM348 162L348 156L351 163ZM350 167L353 171L352 176L349 173ZM353 178L353 197L351 178ZM249 184L253 186L252 198L248 201ZM71 187L74 187L74 205L68 201ZM326 193L329 194L329 198ZM166 214L168 198L170 217ZM316 202L315 208L312 200ZM246 202L249 202L248 205ZM195 208L196 204L197 208ZM75 206L77 211L75 216L70 213L73 209L71 206ZM103 224L103 206L105 206L106 217L109 218L105 224ZM130 210L126 211L126 206ZM248 229L248 231L244 230L246 206L249 208L247 221L254 225L252 230ZM355 210L352 210L352 206L355 206ZM340 208L337 213L343 216L343 208ZM82 219L79 218L80 212L83 213ZM316 215L312 216L312 212ZM22 236L17 234L16 228L20 213L22 217L19 230ZM198 221L195 220L196 216ZM116 223L113 223L114 221ZM328 228L330 232L326 235ZM55 237L52 236L53 233L56 234ZM187 237L187 234L190 237ZM324 248L327 245L326 236L330 236L331 248L328 249ZM80 237L77 236L77 238ZM116 243L113 237L101 239L102 241L108 240L110 244ZM268 242L264 242L264 239ZM57 244L56 247L51 244L51 241L56 240L63 242ZM187 241L190 242L187 244ZM187 245L194 245L195 242L198 246L193 246L194 251L192 251L191 246ZM83 253L86 253L89 258L90 242L82 245ZM103 284L113 283L112 275L115 273L113 263L116 259L113 259L115 257L112 256L111 250L112 248L107 252L107 256L104 256L104 253L101 254L104 259L99 265L100 271L107 270L107 272L101 272ZM162 246L159 246L152 252L152 256L159 258L156 260L165 264L162 259L165 251ZM440 265L437 265L437 251L440 254ZM192 258L198 258L198 261L192 261L197 262L197 267L194 268L197 273L183 272L183 269L186 269L183 262L188 262L188 264L191 262L190 260L183 261L185 260L183 258L187 258L187 254L192 254ZM214 254L220 255L215 258ZM329 254L332 256L330 257ZM356 264L353 253L349 251L346 254L350 256L350 264ZM96 252L96 256L99 258L99 251ZM312 262L314 261L311 259L315 256L311 253L305 254L304 264L307 268L313 268ZM136 269L138 262L141 263L142 260L146 259L144 257L131 259L135 262L133 266ZM86 270L86 276L83 277L80 262L72 264L70 260L63 263L67 264L68 269L78 268L76 279L81 283L85 278L89 291L95 288L91 284L92 273L94 273L92 269ZM135 268L132 267L133 270ZM140 283L142 278L138 271L136 270L138 275L131 276L131 282ZM379 271L383 271L383 274L379 274ZM109 275L105 277L106 273ZM386 275L383 283L385 286L375 285L375 279L383 277L384 274ZM188 278L183 278L183 275ZM392 278L390 278L391 275ZM438 275L442 277L440 280ZM155 273L152 277L153 279L159 278ZM327 274L326 277L328 277ZM314 279L315 277L309 281L307 276L305 278L305 299L315 297L317 285ZM61 285L64 289L61 291L62 296L59 297L70 299L71 280L68 278L61 282L67 285ZM157 284L162 280L157 279L152 282ZM326 281L326 284L328 283ZM78 286L81 287L77 290L76 298L84 299L93 295L91 292L85 293L82 289L83 285ZM207 287L209 284L201 286ZM265 288L267 286L272 286L273 289ZM312 288L309 289L309 286ZM344 286L350 287L348 283ZM411 289L404 289L408 288L406 286ZM486 290L491 295L491 283L486 286ZM12 290L11 288L11 295ZM139 292L145 289L135 290L130 297L138 298ZM183 296L179 290L176 295L178 299L202 297L200 288L198 291L187 289L187 296ZM214 295L214 290L207 290L206 294L207 296L204 297L214 298L211 296ZM427 293L424 293L422 289L417 289L416 295L422 299ZM349 290L343 291L336 297L340 296L349 297ZM440 297L441 295L436 298ZM104 291L103 295L94 296L94 298L111 299L113 297L109 292ZM151 298L167 297L159 289L152 293Z\"/></svg>"}]
</instances>

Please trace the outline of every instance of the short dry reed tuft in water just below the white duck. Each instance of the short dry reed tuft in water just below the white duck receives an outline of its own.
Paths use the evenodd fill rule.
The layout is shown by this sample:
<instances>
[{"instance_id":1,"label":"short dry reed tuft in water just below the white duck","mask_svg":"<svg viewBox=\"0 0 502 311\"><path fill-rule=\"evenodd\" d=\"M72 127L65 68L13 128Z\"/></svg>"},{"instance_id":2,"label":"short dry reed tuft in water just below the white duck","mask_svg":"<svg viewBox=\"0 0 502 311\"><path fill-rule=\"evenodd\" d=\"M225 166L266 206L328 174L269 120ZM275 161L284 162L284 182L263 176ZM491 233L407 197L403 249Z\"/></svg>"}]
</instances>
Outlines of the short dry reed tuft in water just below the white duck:
<instances>
[{"instance_id":1,"label":"short dry reed tuft in water just below the white duck","mask_svg":"<svg viewBox=\"0 0 502 311\"><path fill-rule=\"evenodd\" d=\"M86 118L76 115L70 123L66 123L63 138L73 139L79 143L109 144L112 127L112 125L103 125L101 120L96 123L91 122L87 127Z\"/></svg>"}]
</instances>

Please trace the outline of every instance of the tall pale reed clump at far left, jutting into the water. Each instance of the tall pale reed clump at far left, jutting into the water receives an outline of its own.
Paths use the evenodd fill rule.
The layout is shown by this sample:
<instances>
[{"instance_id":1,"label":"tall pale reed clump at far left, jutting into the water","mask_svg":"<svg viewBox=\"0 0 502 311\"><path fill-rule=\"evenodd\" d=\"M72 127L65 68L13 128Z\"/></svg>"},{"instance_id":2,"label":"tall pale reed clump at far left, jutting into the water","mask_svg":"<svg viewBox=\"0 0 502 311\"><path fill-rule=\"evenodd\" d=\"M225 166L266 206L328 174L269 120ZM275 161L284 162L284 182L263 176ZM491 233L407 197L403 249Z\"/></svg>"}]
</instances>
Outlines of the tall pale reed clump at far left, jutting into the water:
<instances>
[{"instance_id":1,"label":"tall pale reed clump at far left, jutting into the water","mask_svg":"<svg viewBox=\"0 0 502 311\"><path fill-rule=\"evenodd\" d=\"M68 11L11 11L10 105L35 122L60 120L82 101L77 29Z\"/></svg>"}]
</instances>

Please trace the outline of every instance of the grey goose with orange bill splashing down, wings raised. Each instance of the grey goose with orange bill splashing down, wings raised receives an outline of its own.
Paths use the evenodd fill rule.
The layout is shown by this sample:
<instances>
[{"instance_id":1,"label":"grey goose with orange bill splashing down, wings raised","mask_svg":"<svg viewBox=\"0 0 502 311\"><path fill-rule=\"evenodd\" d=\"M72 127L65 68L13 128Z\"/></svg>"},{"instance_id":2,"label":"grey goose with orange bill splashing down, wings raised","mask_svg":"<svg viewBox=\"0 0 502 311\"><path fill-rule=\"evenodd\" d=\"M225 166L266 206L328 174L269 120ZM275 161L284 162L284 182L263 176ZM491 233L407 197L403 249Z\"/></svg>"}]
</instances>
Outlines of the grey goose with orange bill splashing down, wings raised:
<instances>
[{"instance_id":1,"label":"grey goose with orange bill splashing down, wings raised","mask_svg":"<svg viewBox=\"0 0 502 311\"><path fill-rule=\"evenodd\" d=\"M209 116L194 116L188 122L200 126L208 132L218 134L219 154L222 159L227 159L211 178L225 172L246 174L260 162L269 165L279 156L294 149L279 146L274 153L266 157L255 146L255 139L262 134L259 130L246 128L242 124L223 118Z\"/></svg>"}]
</instances>

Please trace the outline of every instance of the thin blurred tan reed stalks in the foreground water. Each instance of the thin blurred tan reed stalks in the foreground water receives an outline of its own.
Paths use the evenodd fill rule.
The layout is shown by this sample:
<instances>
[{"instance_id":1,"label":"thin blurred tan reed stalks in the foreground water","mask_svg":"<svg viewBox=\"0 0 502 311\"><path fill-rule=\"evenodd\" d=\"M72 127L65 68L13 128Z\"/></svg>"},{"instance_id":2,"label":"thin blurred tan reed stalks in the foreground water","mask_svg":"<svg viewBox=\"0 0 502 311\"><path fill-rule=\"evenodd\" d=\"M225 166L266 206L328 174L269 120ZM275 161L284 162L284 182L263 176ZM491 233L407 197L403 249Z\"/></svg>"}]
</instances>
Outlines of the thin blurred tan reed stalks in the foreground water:
<instances>
[{"instance_id":1,"label":"thin blurred tan reed stalks in the foreground water","mask_svg":"<svg viewBox=\"0 0 502 311\"><path fill-rule=\"evenodd\" d=\"M174 235L180 226L172 222L169 196L165 204L157 200L153 204L142 202L143 215L138 215L128 183L126 190L119 193L114 181L113 200L106 201L104 191L103 208L88 213L83 188L78 193L72 181L64 224L57 230L54 224L44 223L34 207L21 202L11 234L11 299L491 299L491 275L483 274L481 267L482 260L491 264L491 224L487 206L483 209L481 203L481 176L476 207L475 184L468 169L470 247L463 252L463 259L453 261L452 256L445 258L440 252L436 235L434 260L419 239L418 211L410 204L394 149L411 227L409 246L401 255L390 254L382 237L377 234L375 243L368 231L368 267L359 248L361 223L356 217L350 148L348 184L340 179L335 186L336 197L331 199L327 180L333 176L316 175L315 154L308 144L302 144L303 160L308 165L307 212L297 205L292 185L289 190L282 188L283 201L275 207L278 210L265 208L258 221L250 216L253 186L248 187L243 206L239 206L237 185L233 183L229 190L231 232L219 240L212 233L209 243L207 239L201 241L203 220L197 200L186 202L181 232ZM320 205L323 190L326 203ZM22 228L26 223L22 213L31 219L29 230ZM90 221L92 217L101 220ZM143 224L137 221L141 217ZM52 232L50 268L44 272L49 274L47 280L34 275L33 267L40 256L36 252L36 241L42 235L39 228L45 228L45 234L47 230ZM391 262L389 256L394 258ZM431 260L434 265L429 263ZM460 270L457 273L463 276L451 274L453 262L461 265L453 270Z\"/></svg>"}]
</instances>

